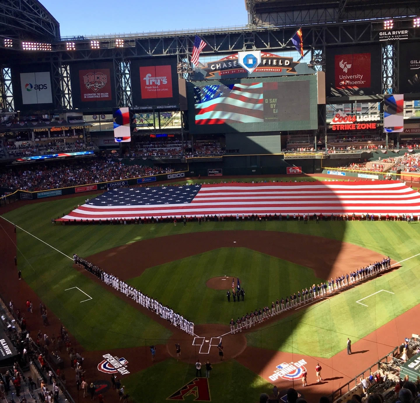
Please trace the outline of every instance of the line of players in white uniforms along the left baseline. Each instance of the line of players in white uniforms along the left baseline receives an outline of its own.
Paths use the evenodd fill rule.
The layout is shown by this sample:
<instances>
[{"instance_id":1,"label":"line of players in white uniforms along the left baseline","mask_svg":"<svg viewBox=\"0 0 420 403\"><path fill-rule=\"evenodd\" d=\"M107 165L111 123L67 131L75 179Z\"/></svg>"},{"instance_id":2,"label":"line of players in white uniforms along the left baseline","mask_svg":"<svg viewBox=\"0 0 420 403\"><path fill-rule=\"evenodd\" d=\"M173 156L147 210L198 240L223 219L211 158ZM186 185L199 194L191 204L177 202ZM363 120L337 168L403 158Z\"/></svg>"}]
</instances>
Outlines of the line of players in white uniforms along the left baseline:
<instances>
[{"instance_id":1,"label":"line of players in white uniforms along the left baseline","mask_svg":"<svg viewBox=\"0 0 420 403\"><path fill-rule=\"evenodd\" d=\"M145 308L155 311L157 315L167 320L168 322L171 322L173 326L184 330L184 332L187 332L189 335L194 335L194 323L189 322L182 315L169 308L169 306L164 306L156 299L153 299L147 294L143 294L133 286L125 283L123 280L120 280L118 277L112 274L108 274L100 267L96 266L92 262L88 262L85 259L81 259L76 254L73 255L73 260L75 264L84 267L85 270L100 278L106 285L110 285L111 287L115 288L115 290L121 291L121 293L125 294L131 299L134 299L134 301L136 301L138 304L141 304Z\"/></svg>"}]
</instances>

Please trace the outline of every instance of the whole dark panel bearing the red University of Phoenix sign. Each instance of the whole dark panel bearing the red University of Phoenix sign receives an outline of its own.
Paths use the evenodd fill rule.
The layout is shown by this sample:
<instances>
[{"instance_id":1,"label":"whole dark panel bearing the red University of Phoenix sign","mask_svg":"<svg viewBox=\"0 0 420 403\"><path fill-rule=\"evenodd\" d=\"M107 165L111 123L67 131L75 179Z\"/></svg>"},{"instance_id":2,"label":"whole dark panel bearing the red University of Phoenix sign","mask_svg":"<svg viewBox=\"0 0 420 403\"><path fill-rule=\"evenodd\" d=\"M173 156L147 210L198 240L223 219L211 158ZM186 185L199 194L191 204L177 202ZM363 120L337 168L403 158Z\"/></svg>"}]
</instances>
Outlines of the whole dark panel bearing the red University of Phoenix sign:
<instances>
[{"instance_id":1,"label":"whole dark panel bearing the red University of Phoenix sign","mask_svg":"<svg viewBox=\"0 0 420 403\"><path fill-rule=\"evenodd\" d=\"M327 97L381 94L381 45L328 48Z\"/></svg>"}]
</instances>

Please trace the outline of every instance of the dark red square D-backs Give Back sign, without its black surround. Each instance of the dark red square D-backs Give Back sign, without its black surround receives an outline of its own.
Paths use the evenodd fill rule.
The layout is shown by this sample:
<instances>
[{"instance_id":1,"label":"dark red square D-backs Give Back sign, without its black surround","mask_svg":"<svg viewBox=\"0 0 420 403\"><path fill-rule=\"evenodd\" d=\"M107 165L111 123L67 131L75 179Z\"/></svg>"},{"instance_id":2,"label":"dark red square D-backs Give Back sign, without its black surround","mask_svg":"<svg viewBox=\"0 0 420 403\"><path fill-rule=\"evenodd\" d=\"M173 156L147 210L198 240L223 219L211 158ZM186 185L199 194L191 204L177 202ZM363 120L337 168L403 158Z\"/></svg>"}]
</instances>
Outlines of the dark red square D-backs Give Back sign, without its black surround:
<instances>
[{"instance_id":1,"label":"dark red square D-backs Give Back sign, without its black surround","mask_svg":"<svg viewBox=\"0 0 420 403\"><path fill-rule=\"evenodd\" d=\"M109 68L101 70L79 70L80 95L82 101L110 101L111 81Z\"/></svg>"}]
</instances>

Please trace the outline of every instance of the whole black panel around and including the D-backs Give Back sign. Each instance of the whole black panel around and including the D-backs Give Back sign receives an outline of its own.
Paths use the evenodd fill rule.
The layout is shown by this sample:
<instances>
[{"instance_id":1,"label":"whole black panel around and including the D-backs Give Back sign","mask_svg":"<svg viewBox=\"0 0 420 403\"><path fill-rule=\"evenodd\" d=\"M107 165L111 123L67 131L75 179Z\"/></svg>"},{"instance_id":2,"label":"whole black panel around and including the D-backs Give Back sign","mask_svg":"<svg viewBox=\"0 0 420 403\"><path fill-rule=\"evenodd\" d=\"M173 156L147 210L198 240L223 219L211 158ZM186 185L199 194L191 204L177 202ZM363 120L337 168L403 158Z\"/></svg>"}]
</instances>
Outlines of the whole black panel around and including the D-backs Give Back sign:
<instances>
[{"instance_id":1,"label":"whole black panel around and including the D-backs Give Back sign","mask_svg":"<svg viewBox=\"0 0 420 403\"><path fill-rule=\"evenodd\" d=\"M74 107L115 107L112 62L74 63L70 67L70 73Z\"/></svg>"}]
</instances>

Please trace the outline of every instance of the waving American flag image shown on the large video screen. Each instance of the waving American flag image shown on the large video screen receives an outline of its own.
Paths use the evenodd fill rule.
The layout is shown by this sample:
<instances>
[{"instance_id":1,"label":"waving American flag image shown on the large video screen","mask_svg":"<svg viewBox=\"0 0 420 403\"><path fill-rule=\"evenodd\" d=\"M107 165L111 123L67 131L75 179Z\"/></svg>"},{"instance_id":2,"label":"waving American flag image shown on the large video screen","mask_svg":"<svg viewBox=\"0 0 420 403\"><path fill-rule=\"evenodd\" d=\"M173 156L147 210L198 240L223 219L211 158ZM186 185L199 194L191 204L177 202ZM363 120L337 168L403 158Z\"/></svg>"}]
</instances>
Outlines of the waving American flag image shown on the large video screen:
<instances>
[{"instance_id":1,"label":"waving American flag image shown on the large video screen","mask_svg":"<svg viewBox=\"0 0 420 403\"><path fill-rule=\"evenodd\" d=\"M195 124L264 122L262 83L194 87Z\"/></svg>"}]
</instances>

